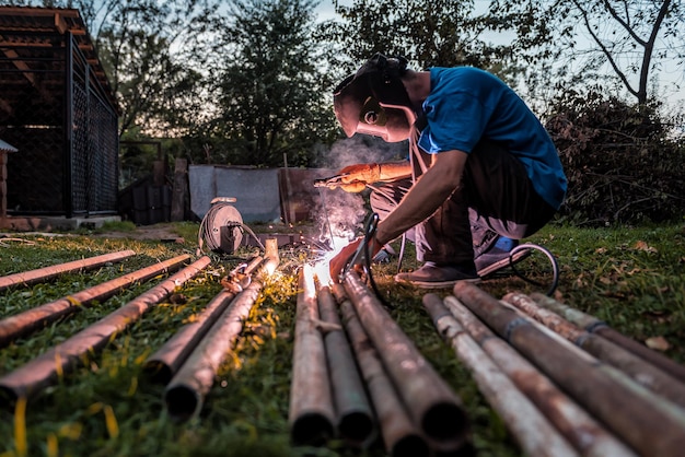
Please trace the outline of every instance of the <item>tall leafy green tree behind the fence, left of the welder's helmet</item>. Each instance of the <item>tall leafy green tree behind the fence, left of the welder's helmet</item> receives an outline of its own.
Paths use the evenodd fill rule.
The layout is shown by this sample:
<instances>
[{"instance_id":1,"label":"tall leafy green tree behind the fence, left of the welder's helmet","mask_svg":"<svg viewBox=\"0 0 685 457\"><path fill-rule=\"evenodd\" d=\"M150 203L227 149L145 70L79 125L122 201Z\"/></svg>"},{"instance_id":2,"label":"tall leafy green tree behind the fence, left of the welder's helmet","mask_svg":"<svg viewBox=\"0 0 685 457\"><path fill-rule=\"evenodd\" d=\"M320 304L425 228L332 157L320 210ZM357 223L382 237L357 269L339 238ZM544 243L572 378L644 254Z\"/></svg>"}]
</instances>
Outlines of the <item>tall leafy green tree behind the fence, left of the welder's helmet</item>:
<instances>
[{"instance_id":1,"label":"tall leafy green tree behind the fence, left of the welder's helmet","mask_svg":"<svg viewBox=\"0 0 685 457\"><path fill-rule=\"evenodd\" d=\"M214 132L229 139L234 164L309 162L335 132L327 82L311 39L312 0L234 0L223 37Z\"/></svg>"}]
</instances>

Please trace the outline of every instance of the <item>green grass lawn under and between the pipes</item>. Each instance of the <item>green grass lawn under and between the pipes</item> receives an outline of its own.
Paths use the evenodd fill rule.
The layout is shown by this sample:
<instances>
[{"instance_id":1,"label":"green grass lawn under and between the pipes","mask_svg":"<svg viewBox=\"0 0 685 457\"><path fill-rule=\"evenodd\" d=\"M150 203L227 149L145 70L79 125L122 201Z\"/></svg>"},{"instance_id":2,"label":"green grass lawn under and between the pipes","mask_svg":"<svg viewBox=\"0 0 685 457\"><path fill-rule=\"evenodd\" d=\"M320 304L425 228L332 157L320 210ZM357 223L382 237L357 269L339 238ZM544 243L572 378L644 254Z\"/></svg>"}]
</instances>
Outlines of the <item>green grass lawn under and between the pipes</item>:
<instances>
[{"instance_id":1,"label":"green grass lawn under and between the pipes","mask_svg":"<svg viewBox=\"0 0 685 457\"><path fill-rule=\"evenodd\" d=\"M130 227L129 227L130 228ZM129 230L124 228L124 230ZM107 238L98 233L22 237L0 246L0 274L123 249L131 259L86 273L65 274L49 283L15 286L0 293L0 318L135 271L179 254L195 256L197 224L175 227L185 244ZM253 227L255 228L255 227ZM120 231L123 228L117 227ZM132 231L135 232L135 231ZM96 236L95 236L96 235ZM13 235L14 236L14 235ZM30 243L28 243L30 242ZM558 258L561 269L557 300L564 301L639 341L662 337L665 354L685 361L685 227L683 224L577 228L548 226L530 239ZM405 269L416 267L407 249ZM291 446L288 405L294 330L297 268L303 249L281 249L281 268L265 278L263 294L244 325L234 356L222 366L200 414L187 423L171 421L162 400L164 386L142 371L146 358L199 313L221 290L220 279L254 249L222 258L212 254L210 268L177 293L183 300L152 307L84 366L63 376L27 405L0 409L0 456L348 456L340 443L324 447ZM480 456L521 455L515 440L485 401L468 371L440 339L421 306L422 291L400 286L392 277L396 263L374 267L392 315L421 353L463 399L474 444ZM541 256L521 266L548 283ZM163 278L136 284L70 318L0 349L0 375L25 364L49 347L95 323ZM516 277L485 281L496 297L508 292L543 291ZM449 290L438 291L440 294ZM373 446L364 455L383 455Z\"/></svg>"}]
</instances>

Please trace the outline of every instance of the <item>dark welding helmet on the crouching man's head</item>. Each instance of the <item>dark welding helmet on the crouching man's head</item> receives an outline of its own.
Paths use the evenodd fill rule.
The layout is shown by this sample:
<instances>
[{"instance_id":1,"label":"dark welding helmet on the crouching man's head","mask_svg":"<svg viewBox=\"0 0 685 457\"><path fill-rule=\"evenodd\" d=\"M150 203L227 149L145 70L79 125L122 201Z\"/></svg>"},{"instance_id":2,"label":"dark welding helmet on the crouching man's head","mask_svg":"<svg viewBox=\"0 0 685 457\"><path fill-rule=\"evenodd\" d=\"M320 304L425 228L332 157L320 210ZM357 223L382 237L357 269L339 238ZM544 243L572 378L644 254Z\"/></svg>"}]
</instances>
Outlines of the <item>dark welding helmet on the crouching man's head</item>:
<instances>
[{"instance_id":1,"label":"dark welding helmet on the crouching man's head","mask_svg":"<svg viewBox=\"0 0 685 457\"><path fill-rule=\"evenodd\" d=\"M381 137L387 142L409 138L415 120L409 94L402 83L404 57L375 54L333 93L336 118L348 138L355 133Z\"/></svg>"}]
</instances>

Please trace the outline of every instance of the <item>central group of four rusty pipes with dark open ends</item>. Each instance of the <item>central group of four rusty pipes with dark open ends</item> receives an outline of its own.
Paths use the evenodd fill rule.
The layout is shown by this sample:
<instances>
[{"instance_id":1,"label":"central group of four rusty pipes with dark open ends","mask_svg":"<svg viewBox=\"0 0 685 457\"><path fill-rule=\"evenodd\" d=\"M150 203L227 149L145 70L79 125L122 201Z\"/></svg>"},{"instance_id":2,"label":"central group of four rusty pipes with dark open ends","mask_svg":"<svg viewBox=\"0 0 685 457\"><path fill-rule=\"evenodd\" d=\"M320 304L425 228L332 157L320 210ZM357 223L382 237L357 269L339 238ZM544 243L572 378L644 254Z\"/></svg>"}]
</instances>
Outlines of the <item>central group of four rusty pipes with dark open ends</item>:
<instances>
[{"instance_id":1,"label":"central group of four rusty pipes with dark open ends","mask_svg":"<svg viewBox=\"0 0 685 457\"><path fill-rule=\"evenodd\" d=\"M328 286L304 266L299 280L293 443L364 448L380 432L393 457L472 454L460 398L358 274Z\"/></svg>"}]
</instances>

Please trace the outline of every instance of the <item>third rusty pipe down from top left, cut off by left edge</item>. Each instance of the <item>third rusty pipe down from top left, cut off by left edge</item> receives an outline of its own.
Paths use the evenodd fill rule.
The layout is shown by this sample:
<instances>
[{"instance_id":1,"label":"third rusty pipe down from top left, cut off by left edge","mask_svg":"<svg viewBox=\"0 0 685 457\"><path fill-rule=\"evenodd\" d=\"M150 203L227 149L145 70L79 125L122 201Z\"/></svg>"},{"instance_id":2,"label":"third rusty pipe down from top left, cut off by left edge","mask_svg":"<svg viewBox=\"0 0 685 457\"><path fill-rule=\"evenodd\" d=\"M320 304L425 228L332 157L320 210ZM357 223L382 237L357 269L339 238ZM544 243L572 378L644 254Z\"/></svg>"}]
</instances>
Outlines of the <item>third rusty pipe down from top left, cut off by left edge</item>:
<instances>
[{"instance_id":1,"label":"third rusty pipe down from top left, cut off by left edge","mask_svg":"<svg viewBox=\"0 0 685 457\"><path fill-rule=\"evenodd\" d=\"M45 387L54 385L65 373L82 365L86 355L104 348L151 306L169 297L210 261L209 257L201 257L65 342L0 377L0 389L12 402L20 397L34 397Z\"/></svg>"}]
</instances>

